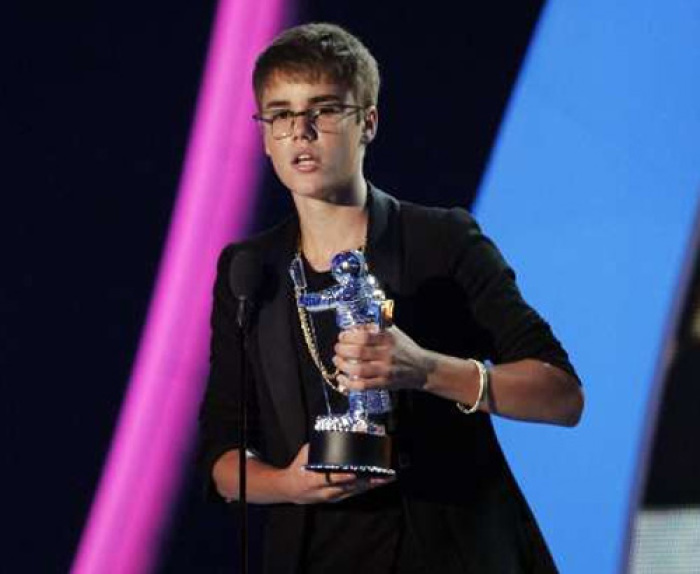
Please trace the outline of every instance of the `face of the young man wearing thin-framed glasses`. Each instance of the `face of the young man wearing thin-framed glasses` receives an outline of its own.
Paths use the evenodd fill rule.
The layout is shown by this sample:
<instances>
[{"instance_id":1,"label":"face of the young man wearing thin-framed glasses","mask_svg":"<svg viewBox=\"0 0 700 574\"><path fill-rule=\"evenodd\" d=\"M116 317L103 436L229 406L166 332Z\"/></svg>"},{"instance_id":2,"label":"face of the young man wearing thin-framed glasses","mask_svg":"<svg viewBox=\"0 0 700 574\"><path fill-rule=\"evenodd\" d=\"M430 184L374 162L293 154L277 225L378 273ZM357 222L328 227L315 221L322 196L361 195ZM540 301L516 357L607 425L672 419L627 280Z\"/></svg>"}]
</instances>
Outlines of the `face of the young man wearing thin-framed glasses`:
<instances>
[{"instance_id":1,"label":"face of the young man wearing thin-framed glasses","mask_svg":"<svg viewBox=\"0 0 700 574\"><path fill-rule=\"evenodd\" d=\"M269 118L285 111L324 107L329 111L357 102L350 90L338 84L323 79L309 83L276 74L263 90L260 105L261 115ZM332 129L320 130L307 116L297 116L293 129L282 139L275 139L272 126L263 124L265 152L277 176L295 196L331 199L362 180L365 146L374 137L376 117L375 108L348 108Z\"/></svg>"}]
</instances>

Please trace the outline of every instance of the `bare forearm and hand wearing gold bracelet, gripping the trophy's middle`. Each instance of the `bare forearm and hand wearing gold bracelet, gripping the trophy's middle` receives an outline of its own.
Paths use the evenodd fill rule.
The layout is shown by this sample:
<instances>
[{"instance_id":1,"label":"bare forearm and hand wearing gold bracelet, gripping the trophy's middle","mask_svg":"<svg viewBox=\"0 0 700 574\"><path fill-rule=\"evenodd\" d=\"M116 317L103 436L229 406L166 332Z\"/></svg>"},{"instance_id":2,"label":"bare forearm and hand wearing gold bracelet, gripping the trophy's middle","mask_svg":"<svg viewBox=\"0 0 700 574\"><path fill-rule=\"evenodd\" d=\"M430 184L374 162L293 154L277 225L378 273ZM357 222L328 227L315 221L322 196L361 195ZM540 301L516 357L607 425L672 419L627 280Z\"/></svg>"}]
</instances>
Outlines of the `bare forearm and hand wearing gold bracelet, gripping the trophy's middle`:
<instances>
[{"instance_id":1,"label":"bare forearm and hand wearing gold bracelet, gripping the trophy's middle","mask_svg":"<svg viewBox=\"0 0 700 574\"><path fill-rule=\"evenodd\" d=\"M350 390L420 389L466 405L479 396L481 378L474 361L423 349L396 326L343 331L335 352L338 384ZM574 426L583 401L573 375L544 361L521 359L489 368L488 393L479 410Z\"/></svg>"}]
</instances>

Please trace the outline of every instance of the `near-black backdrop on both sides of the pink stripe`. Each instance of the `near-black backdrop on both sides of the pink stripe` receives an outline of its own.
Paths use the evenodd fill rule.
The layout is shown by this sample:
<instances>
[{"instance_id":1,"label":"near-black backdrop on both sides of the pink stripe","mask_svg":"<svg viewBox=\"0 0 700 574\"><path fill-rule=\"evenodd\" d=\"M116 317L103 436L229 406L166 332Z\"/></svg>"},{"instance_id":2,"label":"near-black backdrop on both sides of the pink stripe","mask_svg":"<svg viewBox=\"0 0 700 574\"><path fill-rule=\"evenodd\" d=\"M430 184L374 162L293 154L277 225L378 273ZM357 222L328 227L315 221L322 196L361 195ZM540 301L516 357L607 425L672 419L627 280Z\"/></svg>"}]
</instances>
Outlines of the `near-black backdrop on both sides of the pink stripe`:
<instances>
[{"instance_id":1,"label":"near-black backdrop on both sides of the pink stripe","mask_svg":"<svg viewBox=\"0 0 700 574\"><path fill-rule=\"evenodd\" d=\"M431 204L473 200L541 4L301 4L299 21L345 25L380 63L366 170L377 185ZM66 572L77 548L167 233L214 7L3 8L2 571ZM289 206L269 172L265 182L257 228ZM227 516L190 475L161 570L232 571Z\"/></svg>"}]
</instances>

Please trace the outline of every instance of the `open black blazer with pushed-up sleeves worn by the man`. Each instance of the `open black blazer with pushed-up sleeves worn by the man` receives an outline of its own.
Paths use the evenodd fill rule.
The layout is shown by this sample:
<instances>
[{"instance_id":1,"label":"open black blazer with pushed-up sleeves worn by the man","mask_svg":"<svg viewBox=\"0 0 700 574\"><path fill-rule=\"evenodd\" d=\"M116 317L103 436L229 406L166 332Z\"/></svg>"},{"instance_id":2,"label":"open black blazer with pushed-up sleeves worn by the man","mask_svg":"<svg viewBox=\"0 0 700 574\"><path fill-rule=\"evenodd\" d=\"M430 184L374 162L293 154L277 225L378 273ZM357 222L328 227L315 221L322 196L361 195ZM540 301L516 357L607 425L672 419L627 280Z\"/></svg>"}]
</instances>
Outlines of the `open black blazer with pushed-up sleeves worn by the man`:
<instances>
[{"instance_id":1,"label":"open black blazer with pushed-up sleeves worn by the man","mask_svg":"<svg viewBox=\"0 0 700 574\"><path fill-rule=\"evenodd\" d=\"M370 270L396 302L396 325L418 344L494 363L537 358L575 376L547 323L523 301L513 271L466 211L399 202L371 186L368 209ZM252 444L263 460L284 467L305 442L288 276L298 234L298 221L291 218L226 247L219 259L211 372L200 414L207 476L218 457L238 444L242 357L228 284L238 250L253 250L264 270L248 353L255 380ZM394 399L398 485L427 571L556 571L490 416L466 416L453 402L418 391L399 391ZM305 509L281 504L267 512L266 571L296 572Z\"/></svg>"}]
</instances>

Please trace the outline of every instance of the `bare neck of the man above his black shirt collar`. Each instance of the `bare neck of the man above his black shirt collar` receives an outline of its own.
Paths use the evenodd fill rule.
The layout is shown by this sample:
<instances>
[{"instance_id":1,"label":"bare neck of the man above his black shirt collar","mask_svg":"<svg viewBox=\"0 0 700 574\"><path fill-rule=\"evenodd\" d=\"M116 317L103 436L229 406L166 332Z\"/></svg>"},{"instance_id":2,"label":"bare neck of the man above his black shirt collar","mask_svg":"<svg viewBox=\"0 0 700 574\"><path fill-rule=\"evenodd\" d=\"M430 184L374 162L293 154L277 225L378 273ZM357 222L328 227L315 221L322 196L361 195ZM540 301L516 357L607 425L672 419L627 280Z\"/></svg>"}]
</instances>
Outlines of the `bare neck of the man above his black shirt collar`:
<instances>
[{"instance_id":1,"label":"bare neck of the man above his black shirt collar","mask_svg":"<svg viewBox=\"0 0 700 574\"><path fill-rule=\"evenodd\" d=\"M367 237L367 185L363 181L338 201L304 198L297 201L301 250L311 266L330 268L332 257L341 251L364 246Z\"/></svg>"}]
</instances>

